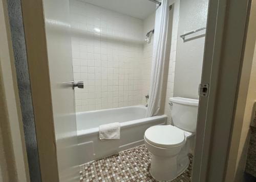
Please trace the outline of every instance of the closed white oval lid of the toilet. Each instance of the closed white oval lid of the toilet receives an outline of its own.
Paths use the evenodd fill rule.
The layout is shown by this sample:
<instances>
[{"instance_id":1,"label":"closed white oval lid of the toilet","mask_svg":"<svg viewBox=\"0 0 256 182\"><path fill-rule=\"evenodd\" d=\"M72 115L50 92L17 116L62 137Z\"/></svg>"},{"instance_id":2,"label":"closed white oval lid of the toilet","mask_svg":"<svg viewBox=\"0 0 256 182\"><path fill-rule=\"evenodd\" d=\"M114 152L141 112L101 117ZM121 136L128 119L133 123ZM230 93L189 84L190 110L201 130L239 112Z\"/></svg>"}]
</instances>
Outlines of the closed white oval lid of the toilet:
<instances>
[{"instance_id":1,"label":"closed white oval lid of the toilet","mask_svg":"<svg viewBox=\"0 0 256 182\"><path fill-rule=\"evenodd\" d=\"M172 125L147 128L144 137L148 143L163 148L174 148L185 143L184 131Z\"/></svg>"}]
</instances>

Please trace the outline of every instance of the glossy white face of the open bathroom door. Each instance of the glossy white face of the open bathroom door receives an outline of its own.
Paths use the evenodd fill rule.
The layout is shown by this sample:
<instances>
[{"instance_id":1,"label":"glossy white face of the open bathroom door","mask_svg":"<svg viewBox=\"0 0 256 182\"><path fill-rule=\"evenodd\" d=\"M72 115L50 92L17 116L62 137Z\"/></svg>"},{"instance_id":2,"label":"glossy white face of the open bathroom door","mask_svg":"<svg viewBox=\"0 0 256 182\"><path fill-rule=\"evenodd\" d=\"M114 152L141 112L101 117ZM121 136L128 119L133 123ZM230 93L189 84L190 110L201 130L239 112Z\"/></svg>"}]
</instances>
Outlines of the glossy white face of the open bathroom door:
<instances>
[{"instance_id":1,"label":"glossy white face of the open bathroom door","mask_svg":"<svg viewBox=\"0 0 256 182\"><path fill-rule=\"evenodd\" d=\"M43 0L59 180L78 181L69 0Z\"/></svg>"}]
</instances>

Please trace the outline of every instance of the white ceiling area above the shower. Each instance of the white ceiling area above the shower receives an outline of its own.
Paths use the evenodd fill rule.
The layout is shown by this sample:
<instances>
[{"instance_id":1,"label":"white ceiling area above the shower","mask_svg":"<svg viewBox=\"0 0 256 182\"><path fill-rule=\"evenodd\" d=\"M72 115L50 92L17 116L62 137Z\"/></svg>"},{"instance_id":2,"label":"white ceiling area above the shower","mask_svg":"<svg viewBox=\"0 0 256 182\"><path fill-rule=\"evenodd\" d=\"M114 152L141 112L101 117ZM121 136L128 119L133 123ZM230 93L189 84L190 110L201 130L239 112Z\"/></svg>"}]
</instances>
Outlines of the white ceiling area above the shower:
<instances>
[{"instance_id":1,"label":"white ceiling area above the shower","mask_svg":"<svg viewBox=\"0 0 256 182\"><path fill-rule=\"evenodd\" d=\"M83 0L86 3L118 13L145 19L156 11L156 4L149 0Z\"/></svg>"}]
</instances>

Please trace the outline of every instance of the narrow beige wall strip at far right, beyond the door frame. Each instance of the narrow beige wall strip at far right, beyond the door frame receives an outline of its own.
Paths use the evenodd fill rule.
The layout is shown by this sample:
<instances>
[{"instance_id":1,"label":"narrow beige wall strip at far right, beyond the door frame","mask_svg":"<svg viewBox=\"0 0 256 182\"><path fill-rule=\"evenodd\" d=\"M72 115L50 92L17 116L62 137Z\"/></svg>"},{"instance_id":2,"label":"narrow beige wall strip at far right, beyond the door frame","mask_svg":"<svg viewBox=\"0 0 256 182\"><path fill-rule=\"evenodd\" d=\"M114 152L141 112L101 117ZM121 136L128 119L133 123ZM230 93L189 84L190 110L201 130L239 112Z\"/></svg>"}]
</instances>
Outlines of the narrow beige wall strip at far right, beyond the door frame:
<instances>
[{"instance_id":1,"label":"narrow beige wall strip at far right, beyond the door frame","mask_svg":"<svg viewBox=\"0 0 256 182\"><path fill-rule=\"evenodd\" d=\"M244 175L250 140L250 122L256 101L256 2L252 2L245 40L236 114L227 161L226 181L247 181Z\"/></svg>"}]
</instances>

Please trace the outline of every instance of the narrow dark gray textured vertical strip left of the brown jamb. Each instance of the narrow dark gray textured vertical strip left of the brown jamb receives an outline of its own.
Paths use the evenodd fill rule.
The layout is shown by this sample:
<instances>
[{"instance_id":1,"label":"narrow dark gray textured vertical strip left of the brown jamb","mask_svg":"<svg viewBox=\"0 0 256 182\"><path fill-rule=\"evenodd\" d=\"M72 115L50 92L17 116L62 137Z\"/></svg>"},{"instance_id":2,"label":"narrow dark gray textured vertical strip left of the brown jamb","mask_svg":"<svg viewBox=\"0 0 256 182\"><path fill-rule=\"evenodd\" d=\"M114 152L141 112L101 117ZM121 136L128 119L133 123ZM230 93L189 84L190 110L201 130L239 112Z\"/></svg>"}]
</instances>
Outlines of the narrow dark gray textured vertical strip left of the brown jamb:
<instances>
[{"instance_id":1,"label":"narrow dark gray textured vertical strip left of the brown jamb","mask_svg":"<svg viewBox=\"0 0 256 182\"><path fill-rule=\"evenodd\" d=\"M41 174L36 141L33 104L30 90L22 6L20 4L20 0L8 0L7 2L19 99L22 109L25 142L28 154L30 180L31 182L40 182Z\"/></svg>"}]
</instances>

